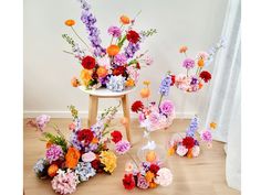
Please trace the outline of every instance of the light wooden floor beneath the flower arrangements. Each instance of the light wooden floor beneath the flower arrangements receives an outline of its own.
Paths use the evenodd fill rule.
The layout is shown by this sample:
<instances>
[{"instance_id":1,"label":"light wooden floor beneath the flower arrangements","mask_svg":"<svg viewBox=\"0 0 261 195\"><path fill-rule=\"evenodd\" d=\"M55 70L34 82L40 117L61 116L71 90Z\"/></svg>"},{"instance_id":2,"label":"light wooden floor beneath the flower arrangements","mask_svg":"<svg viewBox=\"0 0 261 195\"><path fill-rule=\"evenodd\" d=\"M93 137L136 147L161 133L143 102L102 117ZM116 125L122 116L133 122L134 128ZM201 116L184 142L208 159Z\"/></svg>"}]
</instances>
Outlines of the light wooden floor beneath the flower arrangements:
<instances>
[{"instance_id":1,"label":"light wooden floor beneath the flower arrangements","mask_svg":"<svg viewBox=\"0 0 261 195\"><path fill-rule=\"evenodd\" d=\"M27 121L27 119L24 119ZM52 119L52 122L59 124L62 131L67 134L67 124L70 119ZM25 122L24 122L25 123ZM117 130L124 130L115 120L113 124ZM175 120L174 124L166 131L160 130L153 132L152 138L157 143L166 143L167 139L174 132L184 131L189 120ZM83 122L86 127L86 121ZM123 131L124 132L124 131ZM142 143L142 129L138 122L132 122L133 149L130 153L136 155L138 145ZM33 173L33 165L38 159L44 156L44 143L39 141L39 133L34 129L24 124L24 148L23 148L23 171L24 171L24 193L25 195L54 195L50 181L41 181ZM171 169L174 173L174 183L168 187L157 187L154 189L138 189L132 192L124 189L122 177L124 174L125 162L128 156L119 156L117 167L113 175L98 174L88 182L77 186L75 195L124 195L124 194L150 194L150 195L239 195L227 186L225 177L225 152L223 144L213 142L211 150L202 148L201 155L196 159L179 158L177 155L169 156L166 166Z\"/></svg>"}]
</instances>

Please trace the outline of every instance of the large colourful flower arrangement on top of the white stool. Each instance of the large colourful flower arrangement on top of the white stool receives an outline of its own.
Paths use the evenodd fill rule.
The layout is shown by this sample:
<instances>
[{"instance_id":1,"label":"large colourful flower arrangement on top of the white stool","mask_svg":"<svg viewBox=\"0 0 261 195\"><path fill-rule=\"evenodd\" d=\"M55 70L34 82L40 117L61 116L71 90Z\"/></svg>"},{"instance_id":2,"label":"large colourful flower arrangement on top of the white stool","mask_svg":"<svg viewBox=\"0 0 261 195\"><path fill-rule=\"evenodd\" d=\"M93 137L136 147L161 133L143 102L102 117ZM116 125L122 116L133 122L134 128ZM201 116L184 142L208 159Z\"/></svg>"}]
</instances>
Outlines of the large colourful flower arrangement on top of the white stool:
<instances>
[{"instance_id":1,"label":"large colourful flower arrangement on top of the white stool","mask_svg":"<svg viewBox=\"0 0 261 195\"><path fill-rule=\"evenodd\" d=\"M96 26L97 20L91 12L87 0L80 0L80 3L82 8L81 20L86 29L88 43L75 31L74 20L66 20L65 25L71 28L84 47L70 35L62 35L72 46L72 52L64 52L72 54L82 65L80 79L73 77L72 86L83 86L86 89L104 87L112 91L122 91L134 87L138 82L142 64L149 66L153 63L153 59L147 55L148 51L139 54L137 52L146 37L154 35L156 30L137 31L134 29L136 18L140 12L133 19L122 15L118 24L107 29L111 41L104 47L102 46L100 30Z\"/></svg>"}]
</instances>

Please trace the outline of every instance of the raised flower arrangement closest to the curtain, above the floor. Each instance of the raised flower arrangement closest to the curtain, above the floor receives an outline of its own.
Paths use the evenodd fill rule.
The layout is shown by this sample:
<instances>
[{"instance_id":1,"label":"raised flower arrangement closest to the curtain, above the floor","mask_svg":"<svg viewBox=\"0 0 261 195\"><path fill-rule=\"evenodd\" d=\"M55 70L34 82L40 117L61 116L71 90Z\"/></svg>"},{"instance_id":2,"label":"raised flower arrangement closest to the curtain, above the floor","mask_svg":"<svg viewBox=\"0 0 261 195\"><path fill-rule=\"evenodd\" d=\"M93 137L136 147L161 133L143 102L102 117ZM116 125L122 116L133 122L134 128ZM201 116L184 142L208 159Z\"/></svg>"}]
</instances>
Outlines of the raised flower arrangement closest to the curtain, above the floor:
<instances>
[{"instance_id":1,"label":"raised flower arrangement closest to the curtain, above the floor","mask_svg":"<svg viewBox=\"0 0 261 195\"><path fill-rule=\"evenodd\" d=\"M217 52L223 46L225 41L221 40L209 52L199 52L195 58L187 57L188 47L181 46L179 53L185 54L182 67L186 68L187 73L176 76L176 87L187 93L196 93L205 84L208 84L212 76L203 68L209 66Z\"/></svg>"}]
</instances>

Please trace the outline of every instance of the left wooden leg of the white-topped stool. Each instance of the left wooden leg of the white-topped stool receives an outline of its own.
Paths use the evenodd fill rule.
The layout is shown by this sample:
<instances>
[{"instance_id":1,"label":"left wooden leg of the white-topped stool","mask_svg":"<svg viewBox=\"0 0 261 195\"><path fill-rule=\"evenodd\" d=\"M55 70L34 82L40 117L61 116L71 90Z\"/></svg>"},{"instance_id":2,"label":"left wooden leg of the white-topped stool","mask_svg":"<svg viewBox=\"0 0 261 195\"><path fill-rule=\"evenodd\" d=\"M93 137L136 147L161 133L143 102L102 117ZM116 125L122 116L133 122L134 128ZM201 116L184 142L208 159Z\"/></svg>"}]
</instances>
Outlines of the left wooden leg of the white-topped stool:
<instances>
[{"instance_id":1,"label":"left wooden leg of the white-topped stool","mask_svg":"<svg viewBox=\"0 0 261 195\"><path fill-rule=\"evenodd\" d=\"M90 95L88 98L88 127L95 123L97 117L98 98Z\"/></svg>"}]
</instances>

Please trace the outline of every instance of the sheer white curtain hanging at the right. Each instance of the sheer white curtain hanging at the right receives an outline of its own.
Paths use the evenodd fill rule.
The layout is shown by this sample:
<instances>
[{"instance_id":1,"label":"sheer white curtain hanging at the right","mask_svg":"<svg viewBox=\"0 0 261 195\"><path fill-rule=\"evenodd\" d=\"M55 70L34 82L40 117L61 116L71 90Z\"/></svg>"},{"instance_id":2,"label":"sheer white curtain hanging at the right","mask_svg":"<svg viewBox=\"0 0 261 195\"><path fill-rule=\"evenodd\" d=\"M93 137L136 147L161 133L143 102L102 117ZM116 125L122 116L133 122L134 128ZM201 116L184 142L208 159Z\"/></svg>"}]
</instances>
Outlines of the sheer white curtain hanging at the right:
<instances>
[{"instance_id":1,"label":"sheer white curtain hanging at the right","mask_svg":"<svg viewBox=\"0 0 261 195\"><path fill-rule=\"evenodd\" d=\"M203 123L218 123L213 138L226 142L226 176L229 186L240 189L241 176L241 2L229 0L222 36L227 46L212 71L208 101L201 102ZM206 104L208 102L208 104Z\"/></svg>"}]
</instances>

